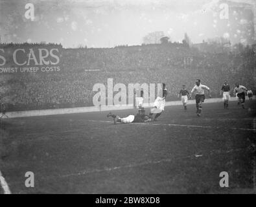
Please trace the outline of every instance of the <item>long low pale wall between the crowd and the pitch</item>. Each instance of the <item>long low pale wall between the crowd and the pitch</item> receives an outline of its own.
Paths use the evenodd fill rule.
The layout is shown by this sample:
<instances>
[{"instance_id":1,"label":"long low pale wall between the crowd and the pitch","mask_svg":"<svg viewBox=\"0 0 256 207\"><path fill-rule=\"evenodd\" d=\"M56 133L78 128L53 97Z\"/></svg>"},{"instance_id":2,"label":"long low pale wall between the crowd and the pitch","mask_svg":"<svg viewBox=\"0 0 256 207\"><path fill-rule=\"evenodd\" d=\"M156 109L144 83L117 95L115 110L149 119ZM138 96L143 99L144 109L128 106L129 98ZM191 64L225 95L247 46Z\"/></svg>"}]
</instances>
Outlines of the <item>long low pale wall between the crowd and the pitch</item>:
<instances>
[{"instance_id":1,"label":"long low pale wall between the crowd and the pitch","mask_svg":"<svg viewBox=\"0 0 256 207\"><path fill-rule=\"evenodd\" d=\"M248 99L248 97L246 97ZM255 96L253 96L255 99ZM230 101L236 101L237 98L231 97ZM218 103L223 102L222 98L207 98L205 99L205 103ZM189 100L187 104L194 104L195 100ZM182 105L181 101L172 101L166 102L165 106L171 105ZM153 103L150 103L148 107L152 107ZM49 115L57 115L57 114L73 114L73 113L89 113L89 112L99 112L99 111L117 111L124 109L134 109L134 105L111 105L104 107L74 107L74 108L64 108L64 109L45 109L45 110L31 110L31 111L12 111L6 112L8 118L18 118L18 117L28 117L28 116L49 116ZM6 116L3 116L6 118Z\"/></svg>"}]
</instances>

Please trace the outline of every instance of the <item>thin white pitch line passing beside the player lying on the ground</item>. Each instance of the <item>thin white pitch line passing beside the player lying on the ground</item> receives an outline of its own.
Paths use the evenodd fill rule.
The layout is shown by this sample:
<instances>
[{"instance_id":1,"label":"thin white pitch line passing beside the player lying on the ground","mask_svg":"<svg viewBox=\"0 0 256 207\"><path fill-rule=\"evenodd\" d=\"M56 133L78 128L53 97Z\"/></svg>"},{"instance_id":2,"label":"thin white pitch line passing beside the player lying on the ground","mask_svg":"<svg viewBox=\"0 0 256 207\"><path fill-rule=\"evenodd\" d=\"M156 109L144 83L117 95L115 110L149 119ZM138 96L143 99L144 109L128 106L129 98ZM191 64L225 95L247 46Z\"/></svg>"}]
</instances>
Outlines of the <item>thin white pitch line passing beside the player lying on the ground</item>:
<instances>
[{"instance_id":1,"label":"thin white pitch line passing beside the player lying on the ground","mask_svg":"<svg viewBox=\"0 0 256 207\"><path fill-rule=\"evenodd\" d=\"M88 120L89 122L105 122L105 123L113 123L111 121L103 121L103 120ZM148 123L130 123L130 124L137 124L137 125L167 125L167 126L174 126L174 127L196 127L196 128L208 128L208 129L220 129L221 127L212 127L210 125L187 125L187 124L150 124ZM246 128L229 128L235 130L246 130L246 131L256 131L256 129L246 129Z\"/></svg>"}]
</instances>

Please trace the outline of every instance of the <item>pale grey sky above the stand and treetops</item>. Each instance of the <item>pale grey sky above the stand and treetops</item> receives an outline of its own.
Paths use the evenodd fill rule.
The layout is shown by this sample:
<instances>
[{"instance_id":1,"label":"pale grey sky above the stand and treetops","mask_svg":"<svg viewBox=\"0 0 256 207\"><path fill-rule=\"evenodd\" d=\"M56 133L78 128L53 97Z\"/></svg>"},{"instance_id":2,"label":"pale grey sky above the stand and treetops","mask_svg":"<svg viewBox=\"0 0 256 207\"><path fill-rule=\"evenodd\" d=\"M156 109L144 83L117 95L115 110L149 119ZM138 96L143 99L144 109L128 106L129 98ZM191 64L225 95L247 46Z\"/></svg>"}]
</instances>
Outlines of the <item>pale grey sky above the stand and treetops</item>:
<instances>
[{"instance_id":1,"label":"pale grey sky above the stand and treetops","mask_svg":"<svg viewBox=\"0 0 256 207\"><path fill-rule=\"evenodd\" d=\"M256 40L254 0L0 0L1 42L51 42L64 47L141 45L150 32L193 43L215 37ZM34 17L25 13L32 3ZM223 16L223 3L228 16ZM254 6L254 7L253 7ZM248 10L249 9L249 10ZM29 14L32 14L31 12ZM255 14L256 15L256 14Z\"/></svg>"}]
</instances>

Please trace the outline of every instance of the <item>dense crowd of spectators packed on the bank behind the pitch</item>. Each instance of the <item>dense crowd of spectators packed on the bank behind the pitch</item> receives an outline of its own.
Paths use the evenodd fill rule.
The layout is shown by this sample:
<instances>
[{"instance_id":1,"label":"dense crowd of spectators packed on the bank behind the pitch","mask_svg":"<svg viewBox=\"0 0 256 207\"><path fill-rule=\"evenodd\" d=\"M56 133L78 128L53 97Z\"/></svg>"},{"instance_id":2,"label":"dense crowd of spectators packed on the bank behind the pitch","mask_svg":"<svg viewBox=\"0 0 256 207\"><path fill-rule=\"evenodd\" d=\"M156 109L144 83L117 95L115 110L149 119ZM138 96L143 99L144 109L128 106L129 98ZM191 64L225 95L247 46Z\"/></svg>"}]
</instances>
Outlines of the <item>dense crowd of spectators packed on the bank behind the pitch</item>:
<instances>
[{"instance_id":1,"label":"dense crowd of spectators packed on the bank behind the pitch","mask_svg":"<svg viewBox=\"0 0 256 207\"><path fill-rule=\"evenodd\" d=\"M255 56L233 53L202 53L197 49L176 45L145 45L114 49L64 49L61 71L5 75L5 102L9 110L46 109L93 105L95 83L107 87L107 79L115 83L162 83L177 100L181 85L191 89L200 78L218 97L224 80L231 87L240 82L253 86ZM99 71L86 72L86 69ZM3 99L2 99L3 101Z\"/></svg>"}]
</instances>

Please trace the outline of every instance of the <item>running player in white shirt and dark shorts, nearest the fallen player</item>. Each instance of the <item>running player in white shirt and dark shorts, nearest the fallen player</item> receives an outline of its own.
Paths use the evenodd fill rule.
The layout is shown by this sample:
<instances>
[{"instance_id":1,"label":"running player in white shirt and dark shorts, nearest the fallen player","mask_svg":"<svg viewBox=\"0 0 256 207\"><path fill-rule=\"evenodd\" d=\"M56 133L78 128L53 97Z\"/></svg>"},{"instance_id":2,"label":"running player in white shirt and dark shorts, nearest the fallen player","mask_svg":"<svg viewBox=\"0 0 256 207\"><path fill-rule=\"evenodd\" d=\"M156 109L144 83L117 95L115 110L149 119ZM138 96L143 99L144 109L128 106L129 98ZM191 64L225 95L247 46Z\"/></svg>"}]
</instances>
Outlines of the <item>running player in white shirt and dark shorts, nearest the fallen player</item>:
<instances>
[{"instance_id":1,"label":"running player in white shirt and dark shorts, nearest the fallen player","mask_svg":"<svg viewBox=\"0 0 256 207\"><path fill-rule=\"evenodd\" d=\"M201 84L200 79L196 80L196 85L194 85L194 87L191 90L191 95L190 98L192 98L192 93L196 93L196 114L198 116L201 116L201 112L202 112L202 103L205 100L205 94L204 94L204 90L207 90L209 93L209 97L211 98L211 94L210 94L210 89L209 87L207 87L206 85Z\"/></svg>"}]
</instances>

